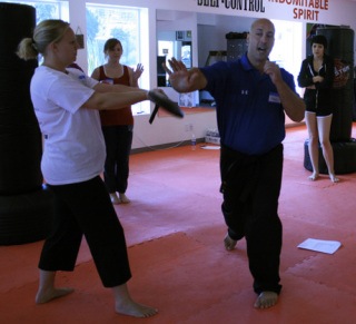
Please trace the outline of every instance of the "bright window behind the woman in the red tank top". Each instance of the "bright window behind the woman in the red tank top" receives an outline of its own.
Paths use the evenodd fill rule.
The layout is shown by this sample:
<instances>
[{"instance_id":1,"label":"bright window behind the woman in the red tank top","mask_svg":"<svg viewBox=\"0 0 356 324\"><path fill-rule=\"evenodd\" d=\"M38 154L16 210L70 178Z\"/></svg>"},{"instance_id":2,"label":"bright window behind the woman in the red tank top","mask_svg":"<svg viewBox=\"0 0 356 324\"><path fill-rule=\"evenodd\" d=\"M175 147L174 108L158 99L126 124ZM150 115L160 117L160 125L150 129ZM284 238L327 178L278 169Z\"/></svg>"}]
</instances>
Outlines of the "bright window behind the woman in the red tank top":
<instances>
[{"instance_id":1,"label":"bright window behind the woman in the red tank top","mask_svg":"<svg viewBox=\"0 0 356 324\"><path fill-rule=\"evenodd\" d=\"M142 63L145 71L139 87L149 88L148 10L145 8L87 4L88 73L106 62L103 45L109 38L122 43L121 62L134 69ZM150 114L150 105L144 101L132 106L134 115Z\"/></svg>"}]
</instances>

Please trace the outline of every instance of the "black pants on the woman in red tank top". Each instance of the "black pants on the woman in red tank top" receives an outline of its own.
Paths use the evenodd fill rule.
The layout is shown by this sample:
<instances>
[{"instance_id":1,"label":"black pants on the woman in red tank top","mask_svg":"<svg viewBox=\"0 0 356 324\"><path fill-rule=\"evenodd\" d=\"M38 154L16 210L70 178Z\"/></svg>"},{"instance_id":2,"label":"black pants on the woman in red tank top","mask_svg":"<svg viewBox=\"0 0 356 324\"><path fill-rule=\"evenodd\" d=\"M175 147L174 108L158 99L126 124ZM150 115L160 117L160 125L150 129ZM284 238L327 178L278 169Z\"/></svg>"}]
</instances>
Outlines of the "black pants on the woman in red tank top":
<instances>
[{"instance_id":1,"label":"black pants on the woman in red tank top","mask_svg":"<svg viewBox=\"0 0 356 324\"><path fill-rule=\"evenodd\" d=\"M103 180L109 193L118 192L125 194L127 190L132 130L132 125L102 127L107 148Z\"/></svg>"}]
</instances>

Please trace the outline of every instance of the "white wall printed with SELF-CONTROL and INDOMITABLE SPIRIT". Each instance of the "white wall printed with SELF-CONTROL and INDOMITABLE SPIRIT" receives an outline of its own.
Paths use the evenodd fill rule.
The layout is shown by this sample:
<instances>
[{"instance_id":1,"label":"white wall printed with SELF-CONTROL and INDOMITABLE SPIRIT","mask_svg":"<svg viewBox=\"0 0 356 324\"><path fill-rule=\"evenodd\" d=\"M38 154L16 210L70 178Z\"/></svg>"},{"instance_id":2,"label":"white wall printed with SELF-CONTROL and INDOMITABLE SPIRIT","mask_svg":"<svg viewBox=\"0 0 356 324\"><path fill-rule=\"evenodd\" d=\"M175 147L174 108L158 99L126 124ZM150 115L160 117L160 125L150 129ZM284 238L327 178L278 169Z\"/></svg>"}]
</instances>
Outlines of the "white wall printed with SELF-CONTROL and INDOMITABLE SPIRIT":
<instances>
[{"instance_id":1,"label":"white wall printed with SELF-CONTROL and INDOMITABLE SPIRIT","mask_svg":"<svg viewBox=\"0 0 356 324\"><path fill-rule=\"evenodd\" d=\"M216 31L219 26L224 22L236 23L236 30L246 30L249 27L251 18L266 17L269 19L279 19L288 21L301 21L313 23L325 23L325 24L344 24L349 26L352 29L356 29L356 2L352 0L320 0L313 1L319 2L322 8L303 8L288 4L291 0L255 0L253 1L258 4L259 8L264 9L254 10L237 10L226 8L225 3L236 3L238 1L225 0L69 0L70 2L70 23L73 28L80 26L83 33L86 33L86 14L85 6L86 2L98 2L108 4L120 4L129 7L144 7L149 9L149 61L150 61L150 85L156 87L156 31L157 31L157 16L156 10L170 10L170 11L190 11L197 12L197 14L190 14L189 17L175 18L175 14L166 16L167 21L160 22L158 26L162 28L177 28L179 30L192 30L192 62L195 66L198 65L198 52L199 50L206 51L207 43L214 41L214 37L209 40L198 40L198 24L204 24L205 28ZM245 2L245 1L243 1ZM249 2L249 1L247 1ZM304 1L310 2L310 1ZM208 3L211 6L199 6L199 3ZM298 11L300 10L300 11ZM307 11L309 10L309 11ZM309 12L309 19L306 17L296 18L295 12ZM205 13L208 13L205 14ZM211 14L218 14L217 17ZM222 17L221 17L222 16ZM225 16L225 17L224 17ZM160 18L161 19L161 18ZM305 28L304 28L305 36ZM304 37L305 38L305 37ZM217 47L222 46L222 41L219 39L216 43ZM201 46L197 46L202 42ZM211 45L212 46L212 45ZM300 48L304 53L305 48ZM201 61L201 59L200 59ZM78 55L78 63L82 67L87 67L86 51L80 50ZM299 65L300 62L297 62ZM167 89L167 88L166 88ZM176 98L172 89L168 89L168 96ZM196 137L200 138L205 136L206 129L216 127L215 111L186 115L184 119L177 119L175 117L156 117L152 125L148 122L149 116L137 116L135 117L135 136L132 148L142 148L146 146L165 145L169 143L177 143L181 140L188 140L190 132L186 131L186 125L192 124Z\"/></svg>"}]
</instances>

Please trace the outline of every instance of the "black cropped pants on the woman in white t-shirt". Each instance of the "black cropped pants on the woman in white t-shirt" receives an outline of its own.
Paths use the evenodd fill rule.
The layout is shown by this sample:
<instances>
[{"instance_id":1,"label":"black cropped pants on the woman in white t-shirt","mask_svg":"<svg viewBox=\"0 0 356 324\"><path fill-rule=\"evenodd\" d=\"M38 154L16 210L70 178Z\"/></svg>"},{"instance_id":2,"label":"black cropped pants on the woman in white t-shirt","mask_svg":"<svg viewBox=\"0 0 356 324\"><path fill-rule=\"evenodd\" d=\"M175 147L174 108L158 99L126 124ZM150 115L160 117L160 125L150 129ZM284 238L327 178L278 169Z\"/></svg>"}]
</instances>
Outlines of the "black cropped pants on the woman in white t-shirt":
<instances>
[{"instance_id":1,"label":"black cropped pants on the woman in white t-shirt","mask_svg":"<svg viewBox=\"0 0 356 324\"><path fill-rule=\"evenodd\" d=\"M125 284L131 277L125 234L101 178L49 188L55 215L39 268L73 271L85 235L103 286Z\"/></svg>"}]
</instances>

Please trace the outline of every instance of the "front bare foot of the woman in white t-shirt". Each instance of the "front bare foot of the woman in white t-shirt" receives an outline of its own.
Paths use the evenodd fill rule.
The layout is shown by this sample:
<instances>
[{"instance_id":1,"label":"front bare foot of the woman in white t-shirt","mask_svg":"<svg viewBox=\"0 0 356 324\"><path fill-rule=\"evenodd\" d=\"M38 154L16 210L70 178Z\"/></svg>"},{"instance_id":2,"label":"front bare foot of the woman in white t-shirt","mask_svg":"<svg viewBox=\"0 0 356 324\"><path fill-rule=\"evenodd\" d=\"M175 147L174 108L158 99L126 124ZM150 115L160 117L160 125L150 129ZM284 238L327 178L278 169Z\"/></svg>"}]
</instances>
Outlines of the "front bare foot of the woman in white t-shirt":
<instances>
[{"instance_id":1,"label":"front bare foot of the woman in white t-shirt","mask_svg":"<svg viewBox=\"0 0 356 324\"><path fill-rule=\"evenodd\" d=\"M134 317L150 317L158 313L158 310L141 305L132 301L127 284L112 287L115 296L115 311L119 314Z\"/></svg>"}]
</instances>

